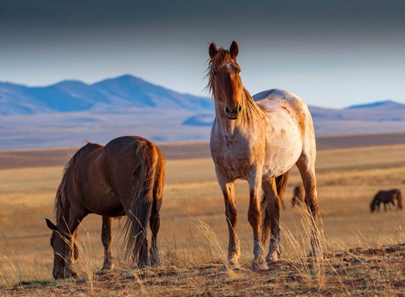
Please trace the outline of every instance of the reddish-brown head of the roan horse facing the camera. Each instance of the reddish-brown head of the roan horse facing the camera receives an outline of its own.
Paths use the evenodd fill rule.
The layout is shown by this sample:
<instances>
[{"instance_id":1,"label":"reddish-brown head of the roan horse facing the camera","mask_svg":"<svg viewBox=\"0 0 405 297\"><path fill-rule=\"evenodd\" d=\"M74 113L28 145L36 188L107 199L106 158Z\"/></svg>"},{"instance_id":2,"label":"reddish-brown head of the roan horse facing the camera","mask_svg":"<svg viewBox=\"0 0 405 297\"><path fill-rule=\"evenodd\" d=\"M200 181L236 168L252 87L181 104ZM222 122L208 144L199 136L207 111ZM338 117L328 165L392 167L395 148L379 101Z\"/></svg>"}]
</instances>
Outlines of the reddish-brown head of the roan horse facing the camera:
<instances>
[{"instance_id":1,"label":"reddish-brown head of the roan horse facing the camera","mask_svg":"<svg viewBox=\"0 0 405 297\"><path fill-rule=\"evenodd\" d=\"M240 67L236 63L238 46L232 42L229 50L217 50L215 43L209 47L209 83L215 104L229 120L236 120L242 110L245 89L240 80Z\"/></svg>"}]
</instances>

